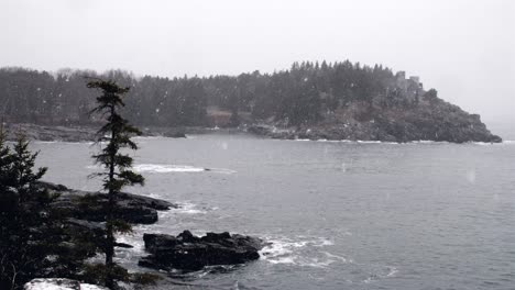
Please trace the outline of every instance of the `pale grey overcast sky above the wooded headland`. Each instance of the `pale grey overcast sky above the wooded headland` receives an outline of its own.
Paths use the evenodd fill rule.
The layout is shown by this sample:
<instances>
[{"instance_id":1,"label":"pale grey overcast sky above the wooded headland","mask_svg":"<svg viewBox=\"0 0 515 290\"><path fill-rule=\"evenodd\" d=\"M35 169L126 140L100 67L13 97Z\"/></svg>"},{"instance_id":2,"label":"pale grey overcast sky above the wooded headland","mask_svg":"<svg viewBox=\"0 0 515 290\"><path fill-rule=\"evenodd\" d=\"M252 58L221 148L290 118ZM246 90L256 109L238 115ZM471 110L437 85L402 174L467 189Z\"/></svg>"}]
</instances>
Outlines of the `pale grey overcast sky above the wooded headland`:
<instances>
[{"instance_id":1,"label":"pale grey overcast sky above the wooded headland","mask_svg":"<svg viewBox=\"0 0 515 290\"><path fill-rule=\"evenodd\" d=\"M515 126L514 0L0 0L0 66L237 75L350 59Z\"/></svg>"}]
</instances>

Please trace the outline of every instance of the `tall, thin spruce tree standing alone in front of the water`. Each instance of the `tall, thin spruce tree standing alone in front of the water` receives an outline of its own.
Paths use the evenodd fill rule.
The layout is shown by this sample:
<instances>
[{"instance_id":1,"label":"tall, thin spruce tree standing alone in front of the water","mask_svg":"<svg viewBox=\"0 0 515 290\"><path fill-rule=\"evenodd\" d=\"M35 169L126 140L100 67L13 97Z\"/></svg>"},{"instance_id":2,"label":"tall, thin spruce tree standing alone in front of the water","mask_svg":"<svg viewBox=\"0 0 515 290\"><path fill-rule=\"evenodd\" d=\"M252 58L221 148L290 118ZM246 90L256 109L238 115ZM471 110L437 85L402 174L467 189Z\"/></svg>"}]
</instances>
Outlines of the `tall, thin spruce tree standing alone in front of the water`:
<instances>
[{"instance_id":1,"label":"tall, thin spruce tree standing alone in front of the water","mask_svg":"<svg viewBox=\"0 0 515 290\"><path fill-rule=\"evenodd\" d=\"M101 96L97 97L97 107L91 113L101 115L106 121L106 124L97 132L97 143L106 145L92 158L105 169L96 176L102 177L103 190L108 194L108 203L105 209L106 236L102 247L106 255L105 285L109 289L116 289L117 281L124 279L120 274L127 274L127 271L123 271L113 261L117 244L114 234L131 230L127 222L118 219L117 194L125 186L144 183L144 178L131 170L133 160L128 154L122 153L122 149L138 149L138 145L131 141L131 137L140 135L141 132L129 124L119 112L120 108L124 107L122 96L129 91L129 88L122 88L112 80L102 79L92 79L87 83L87 87L101 91Z\"/></svg>"}]
</instances>

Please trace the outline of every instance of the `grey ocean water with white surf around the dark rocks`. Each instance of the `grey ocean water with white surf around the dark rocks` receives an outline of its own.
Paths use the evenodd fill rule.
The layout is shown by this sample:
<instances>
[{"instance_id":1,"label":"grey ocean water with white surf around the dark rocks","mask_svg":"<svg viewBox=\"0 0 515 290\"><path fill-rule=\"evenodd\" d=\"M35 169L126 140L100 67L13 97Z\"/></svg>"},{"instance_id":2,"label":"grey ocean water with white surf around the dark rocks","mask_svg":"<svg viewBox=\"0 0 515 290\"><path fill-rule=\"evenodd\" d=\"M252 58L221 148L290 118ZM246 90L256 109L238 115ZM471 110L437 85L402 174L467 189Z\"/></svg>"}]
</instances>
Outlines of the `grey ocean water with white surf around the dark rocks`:
<instances>
[{"instance_id":1,"label":"grey ocean water with white surf around the dark rocks","mask_svg":"<svg viewBox=\"0 0 515 290\"><path fill-rule=\"evenodd\" d=\"M245 266L161 289L515 289L515 143L374 144L208 134L138 138L132 192L178 202L144 232L273 244ZM46 180L97 190L86 143L34 143ZM201 168L210 168L202 171ZM177 286L179 281L190 286Z\"/></svg>"}]
</instances>

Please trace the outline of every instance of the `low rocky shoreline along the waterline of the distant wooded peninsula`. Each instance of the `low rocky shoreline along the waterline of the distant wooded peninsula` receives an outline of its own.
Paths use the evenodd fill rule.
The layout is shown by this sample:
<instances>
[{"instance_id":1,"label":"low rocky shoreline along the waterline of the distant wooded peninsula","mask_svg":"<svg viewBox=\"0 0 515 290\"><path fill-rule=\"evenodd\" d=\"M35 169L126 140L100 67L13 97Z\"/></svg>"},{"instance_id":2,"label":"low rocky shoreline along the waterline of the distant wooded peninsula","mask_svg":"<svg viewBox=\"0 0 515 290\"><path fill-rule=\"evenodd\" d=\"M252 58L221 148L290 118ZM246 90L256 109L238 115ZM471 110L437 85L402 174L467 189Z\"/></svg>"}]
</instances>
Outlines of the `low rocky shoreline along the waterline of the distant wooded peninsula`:
<instances>
[{"instance_id":1,"label":"low rocky shoreline along the waterline of the distant wooded peninsula","mask_svg":"<svg viewBox=\"0 0 515 290\"><path fill-rule=\"evenodd\" d=\"M35 124L11 124L7 126L8 140L22 132L30 140L44 142L94 142L96 129L89 126L41 126ZM278 140L329 140L329 141L379 141L407 143L418 141L435 142L484 142L501 143L502 138L492 134L480 121L479 115L467 114L446 119L405 118L394 120L382 115L366 122L320 122L313 125L287 126L282 122L242 124L239 127L143 127L142 136L164 136L184 138L186 134L251 133Z\"/></svg>"}]
</instances>

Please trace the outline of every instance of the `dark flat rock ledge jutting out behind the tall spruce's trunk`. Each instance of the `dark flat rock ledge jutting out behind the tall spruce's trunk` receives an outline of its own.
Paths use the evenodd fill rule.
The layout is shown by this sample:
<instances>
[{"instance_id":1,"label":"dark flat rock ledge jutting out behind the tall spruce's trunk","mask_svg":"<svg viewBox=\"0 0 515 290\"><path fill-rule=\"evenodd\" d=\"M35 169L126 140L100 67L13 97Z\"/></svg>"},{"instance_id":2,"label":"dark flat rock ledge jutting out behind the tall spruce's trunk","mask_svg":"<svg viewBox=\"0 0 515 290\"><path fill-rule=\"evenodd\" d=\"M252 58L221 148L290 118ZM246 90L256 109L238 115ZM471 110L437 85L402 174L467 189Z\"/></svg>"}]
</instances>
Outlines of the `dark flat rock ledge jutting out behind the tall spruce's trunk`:
<instances>
[{"instance_id":1,"label":"dark flat rock ledge jutting out behind the tall spruce's trunk","mask_svg":"<svg viewBox=\"0 0 515 290\"><path fill-rule=\"evenodd\" d=\"M72 190L65 186L41 182L53 193L59 197L53 202L53 207L59 210L65 216L89 222L105 222L106 214L103 208L108 202L105 193ZM118 219L122 219L134 224L152 224L157 221L157 211L166 211L177 208L171 202L122 192L117 196L116 213Z\"/></svg>"}]
</instances>

